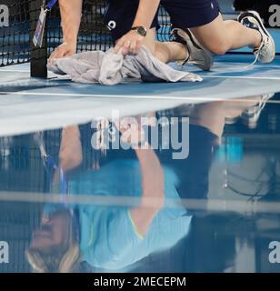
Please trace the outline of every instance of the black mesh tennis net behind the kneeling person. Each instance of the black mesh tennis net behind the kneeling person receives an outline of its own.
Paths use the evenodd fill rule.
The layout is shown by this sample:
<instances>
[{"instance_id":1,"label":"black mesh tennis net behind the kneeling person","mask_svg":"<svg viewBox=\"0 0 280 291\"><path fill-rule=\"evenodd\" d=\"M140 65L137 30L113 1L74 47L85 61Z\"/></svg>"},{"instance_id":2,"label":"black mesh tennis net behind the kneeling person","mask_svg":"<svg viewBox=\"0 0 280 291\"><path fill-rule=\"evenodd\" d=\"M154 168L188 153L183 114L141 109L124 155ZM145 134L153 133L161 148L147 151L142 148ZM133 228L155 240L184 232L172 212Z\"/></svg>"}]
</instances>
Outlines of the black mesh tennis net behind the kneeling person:
<instances>
[{"instance_id":1,"label":"black mesh tennis net behind the kneeling person","mask_svg":"<svg viewBox=\"0 0 280 291\"><path fill-rule=\"evenodd\" d=\"M45 75L47 56L62 42L58 5L48 15L46 35L41 49L35 49L32 39L43 0L4 0L0 22L0 66L27 63L33 60L31 75ZM4 8L2 8L4 7ZM77 51L103 50L112 46L108 29L103 23L105 0L84 0L83 16ZM169 16L160 8L158 30L160 40L169 39Z\"/></svg>"}]
</instances>

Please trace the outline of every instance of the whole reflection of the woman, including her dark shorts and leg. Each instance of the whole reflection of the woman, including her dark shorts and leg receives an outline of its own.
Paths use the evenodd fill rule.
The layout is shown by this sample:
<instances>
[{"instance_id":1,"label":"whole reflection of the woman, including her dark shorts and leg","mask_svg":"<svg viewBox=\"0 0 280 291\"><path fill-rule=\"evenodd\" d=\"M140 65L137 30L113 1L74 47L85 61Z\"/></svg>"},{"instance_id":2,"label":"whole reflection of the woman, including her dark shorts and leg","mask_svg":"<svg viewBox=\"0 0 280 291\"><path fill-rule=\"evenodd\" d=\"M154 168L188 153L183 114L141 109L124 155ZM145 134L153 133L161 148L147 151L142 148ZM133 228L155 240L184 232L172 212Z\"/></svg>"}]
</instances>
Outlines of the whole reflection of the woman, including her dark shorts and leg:
<instances>
[{"instance_id":1,"label":"whole reflection of the woman, including her dark shorts and leg","mask_svg":"<svg viewBox=\"0 0 280 291\"><path fill-rule=\"evenodd\" d=\"M181 207L164 209L165 196L206 198L209 169L225 116L240 115L246 105L231 112L221 102L175 109L177 115L190 116L190 156L185 160L171 162L168 151L167 155L157 153L157 157L150 148L135 149L135 156L109 155L100 170L80 172L70 178L72 195L141 196L142 202L145 197L155 197L157 204L146 208L140 203L132 209L45 206L41 229L35 232L27 252L34 269L69 272L81 261L121 269L175 246L188 234L191 216ZM64 130L60 164L66 171L81 163L79 135L77 126Z\"/></svg>"}]
</instances>

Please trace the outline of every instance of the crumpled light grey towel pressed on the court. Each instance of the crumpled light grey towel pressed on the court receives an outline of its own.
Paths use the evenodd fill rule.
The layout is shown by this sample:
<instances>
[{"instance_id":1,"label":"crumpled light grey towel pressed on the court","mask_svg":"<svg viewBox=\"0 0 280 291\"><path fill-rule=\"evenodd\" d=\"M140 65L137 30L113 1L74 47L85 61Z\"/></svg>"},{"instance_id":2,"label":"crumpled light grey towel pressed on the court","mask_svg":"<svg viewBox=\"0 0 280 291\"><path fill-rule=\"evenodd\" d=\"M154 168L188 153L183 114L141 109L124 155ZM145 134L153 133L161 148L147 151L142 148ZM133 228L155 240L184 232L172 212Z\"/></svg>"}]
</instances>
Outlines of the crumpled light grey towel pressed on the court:
<instances>
[{"instance_id":1,"label":"crumpled light grey towel pressed on the court","mask_svg":"<svg viewBox=\"0 0 280 291\"><path fill-rule=\"evenodd\" d=\"M113 49L106 53L90 51L74 56L55 59L47 65L48 70L57 75L69 75L74 82L116 85L126 76L145 82L196 82L202 81L198 75L177 71L159 61L142 46L138 55L116 54Z\"/></svg>"}]
</instances>

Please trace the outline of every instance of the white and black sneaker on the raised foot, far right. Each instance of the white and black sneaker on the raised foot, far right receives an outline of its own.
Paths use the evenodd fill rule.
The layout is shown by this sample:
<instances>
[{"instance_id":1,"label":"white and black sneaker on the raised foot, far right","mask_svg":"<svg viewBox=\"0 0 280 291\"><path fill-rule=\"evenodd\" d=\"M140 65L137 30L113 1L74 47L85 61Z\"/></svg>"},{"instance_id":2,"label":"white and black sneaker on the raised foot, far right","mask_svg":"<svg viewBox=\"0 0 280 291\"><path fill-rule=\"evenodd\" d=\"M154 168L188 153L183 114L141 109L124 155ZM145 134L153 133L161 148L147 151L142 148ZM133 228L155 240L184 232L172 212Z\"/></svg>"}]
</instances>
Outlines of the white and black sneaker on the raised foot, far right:
<instances>
[{"instance_id":1,"label":"white and black sneaker on the raised foot, far right","mask_svg":"<svg viewBox=\"0 0 280 291\"><path fill-rule=\"evenodd\" d=\"M238 21L248 28L259 31L263 37L262 44L254 50L255 62L271 63L275 59L275 41L265 28L261 16L256 11L247 11L238 16Z\"/></svg>"}]
</instances>

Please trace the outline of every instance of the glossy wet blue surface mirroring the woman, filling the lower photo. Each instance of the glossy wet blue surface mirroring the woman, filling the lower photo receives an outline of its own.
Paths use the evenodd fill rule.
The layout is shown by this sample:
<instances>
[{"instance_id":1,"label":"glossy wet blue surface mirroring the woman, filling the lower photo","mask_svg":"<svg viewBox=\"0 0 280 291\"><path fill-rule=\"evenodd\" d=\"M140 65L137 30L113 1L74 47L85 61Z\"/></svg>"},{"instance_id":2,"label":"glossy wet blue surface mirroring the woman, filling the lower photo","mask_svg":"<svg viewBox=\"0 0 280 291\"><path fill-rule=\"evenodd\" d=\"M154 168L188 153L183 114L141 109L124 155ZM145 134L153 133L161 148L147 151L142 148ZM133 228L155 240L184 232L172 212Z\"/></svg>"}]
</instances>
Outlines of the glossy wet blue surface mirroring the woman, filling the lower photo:
<instances>
[{"instance_id":1,"label":"glossy wet blue surface mirroring the woman, filling the lower photo","mask_svg":"<svg viewBox=\"0 0 280 291\"><path fill-rule=\"evenodd\" d=\"M279 97L1 135L1 272L279 272Z\"/></svg>"}]
</instances>

